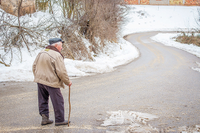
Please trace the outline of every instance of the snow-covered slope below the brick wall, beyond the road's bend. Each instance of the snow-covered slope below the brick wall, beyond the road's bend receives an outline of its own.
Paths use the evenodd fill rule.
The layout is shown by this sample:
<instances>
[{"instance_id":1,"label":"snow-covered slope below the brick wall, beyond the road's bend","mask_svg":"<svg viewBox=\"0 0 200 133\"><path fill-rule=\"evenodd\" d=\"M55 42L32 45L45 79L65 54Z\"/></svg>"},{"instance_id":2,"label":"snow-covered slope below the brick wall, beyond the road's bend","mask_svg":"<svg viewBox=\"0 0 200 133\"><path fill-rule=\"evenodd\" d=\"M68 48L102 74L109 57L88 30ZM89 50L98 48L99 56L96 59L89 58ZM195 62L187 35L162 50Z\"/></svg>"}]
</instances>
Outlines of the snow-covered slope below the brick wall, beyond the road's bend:
<instances>
[{"instance_id":1,"label":"snow-covered slope below the brick wall, beyond the road's bend","mask_svg":"<svg viewBox=\"0 0 200 133\"><path fill-rule=\"evenodd\" d=\"M145 31L177 31L199 28L196 6L130 6L122 35Z\"/></svg>"}]
</instances>

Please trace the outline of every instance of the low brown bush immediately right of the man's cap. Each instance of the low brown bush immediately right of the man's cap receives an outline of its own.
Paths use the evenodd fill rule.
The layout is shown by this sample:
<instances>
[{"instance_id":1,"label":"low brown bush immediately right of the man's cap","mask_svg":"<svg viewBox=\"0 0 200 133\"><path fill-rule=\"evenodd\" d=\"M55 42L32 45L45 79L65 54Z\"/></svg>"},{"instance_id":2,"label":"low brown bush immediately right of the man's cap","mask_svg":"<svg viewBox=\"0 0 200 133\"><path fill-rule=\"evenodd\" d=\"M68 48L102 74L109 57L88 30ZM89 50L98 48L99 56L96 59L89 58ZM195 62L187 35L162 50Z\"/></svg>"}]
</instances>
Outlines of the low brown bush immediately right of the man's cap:
<instances>
[{"instance_id":1,"label":"low brown bush immediately right of the man's cap","mask_svg":"<svg viewBox=\"0 0 200 133\"><path fill-rule=\"evenodd\" d=\"M62 21L56 22L55 29L65 41L62 50L64 57L75 60L92 60L91 54L83 41L84 38L78 32L78 25L63 16Z\"/></svg>"}]
</instances>

